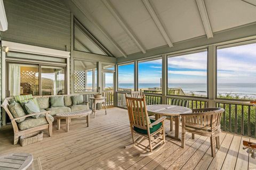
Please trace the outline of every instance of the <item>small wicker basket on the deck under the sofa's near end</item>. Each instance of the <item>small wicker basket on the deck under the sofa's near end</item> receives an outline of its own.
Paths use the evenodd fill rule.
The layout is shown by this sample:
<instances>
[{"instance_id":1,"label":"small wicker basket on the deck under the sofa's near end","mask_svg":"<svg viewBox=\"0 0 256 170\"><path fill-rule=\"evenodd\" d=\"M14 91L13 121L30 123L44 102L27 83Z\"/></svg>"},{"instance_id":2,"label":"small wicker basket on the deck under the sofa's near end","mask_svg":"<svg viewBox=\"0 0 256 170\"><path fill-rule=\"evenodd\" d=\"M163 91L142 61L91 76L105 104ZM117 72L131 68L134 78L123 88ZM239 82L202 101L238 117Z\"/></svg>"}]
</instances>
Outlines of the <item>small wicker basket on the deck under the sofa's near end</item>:
<instances>
[{"instance_id":1,"label":"small wicker basket on the deck under the sofa's near end","mask_svg":"<svg viewBox=\"0 0 256 170\"><path fill-rule=\"evenodd\" d=\"M25 134L20 137L20 145L26 146L32 143L36 143L43 140L43 134L44 132L34 132L30 134Z\"/></svg>"}]
</instances>

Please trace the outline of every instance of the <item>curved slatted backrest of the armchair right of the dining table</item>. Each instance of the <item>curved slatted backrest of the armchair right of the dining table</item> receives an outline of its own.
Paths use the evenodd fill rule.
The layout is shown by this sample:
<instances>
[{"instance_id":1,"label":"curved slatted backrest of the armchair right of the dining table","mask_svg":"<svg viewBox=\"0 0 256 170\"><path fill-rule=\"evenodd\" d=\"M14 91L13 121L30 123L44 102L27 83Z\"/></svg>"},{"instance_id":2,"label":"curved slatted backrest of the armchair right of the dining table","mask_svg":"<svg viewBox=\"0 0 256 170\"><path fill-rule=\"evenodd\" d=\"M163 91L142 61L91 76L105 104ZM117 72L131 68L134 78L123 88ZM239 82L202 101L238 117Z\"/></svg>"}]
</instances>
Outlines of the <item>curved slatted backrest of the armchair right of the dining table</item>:
<instances>
[{"instance_id":1,"label":"curved slatted backrest of the armchair right of the dining table","mask_svg":"<svg viewBox=\"0 0 256 170\"><path fill-rule=\"evenodd\" d=\"M221 114L224 112L222 108L203 108L193 109L193 115L186 116L186 123L195 124L198 128L219 128ZM200 113L195 115L195 113ZM204 115L205 114L205 115Z\"/></svg>"}]
</instances>

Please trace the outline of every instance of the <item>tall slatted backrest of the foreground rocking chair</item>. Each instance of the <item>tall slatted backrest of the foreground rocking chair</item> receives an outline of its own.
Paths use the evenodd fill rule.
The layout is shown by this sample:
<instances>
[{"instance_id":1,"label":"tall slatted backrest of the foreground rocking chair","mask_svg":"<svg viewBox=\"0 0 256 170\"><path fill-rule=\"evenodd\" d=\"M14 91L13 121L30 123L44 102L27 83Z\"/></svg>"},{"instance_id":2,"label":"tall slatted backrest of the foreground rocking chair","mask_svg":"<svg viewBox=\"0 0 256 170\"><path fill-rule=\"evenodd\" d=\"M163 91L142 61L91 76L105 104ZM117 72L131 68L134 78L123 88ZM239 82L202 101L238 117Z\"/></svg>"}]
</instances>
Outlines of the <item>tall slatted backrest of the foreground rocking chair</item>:
<instances>
[{"instance_id":1,"label":"tall slatted backrest of the foreground rocking chair","mask_svg":"<svg viewBox=\"0 0 256 170\"><path fill-rule=\"evenodd\" d=\"M146 130L149 127L149 117L145 96L142 96L142 98L126 96L126 105L130 123L137 128Z\"/></svg>"}]
</instances>

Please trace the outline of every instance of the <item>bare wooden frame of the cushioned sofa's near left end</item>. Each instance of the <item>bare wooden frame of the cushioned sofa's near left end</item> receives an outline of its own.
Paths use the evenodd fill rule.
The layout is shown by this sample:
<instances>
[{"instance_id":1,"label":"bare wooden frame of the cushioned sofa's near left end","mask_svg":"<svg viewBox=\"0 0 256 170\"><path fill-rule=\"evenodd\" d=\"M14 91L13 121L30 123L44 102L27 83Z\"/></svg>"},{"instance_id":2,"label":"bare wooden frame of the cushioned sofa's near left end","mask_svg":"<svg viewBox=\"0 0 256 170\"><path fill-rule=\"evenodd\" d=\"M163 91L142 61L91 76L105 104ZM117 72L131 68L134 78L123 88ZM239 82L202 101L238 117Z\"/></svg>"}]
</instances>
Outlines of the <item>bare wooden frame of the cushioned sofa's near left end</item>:
<instances>
[{"instance_id":1,"label":"bare wooden frame of the cushioned sofa's near left end","mask_svg":"<svg viewBox=\"0 0 256 170\"><path fill-rule=\"evenodd\" d=\"M43 129L48 129L49 130L49 136L50 137L52 136L52 121L49 118L50 111L45 111L45 112L41 112L41 113L34 113L34 114L29 114L29 115L14 118L12 116L12 113L9 110L9 101L10 101L10 99L12 99L12 97L6 98L3 102L3 104L2 104L2 107L4 108L5 112L8 114L8 116L11 119L11 123L12 123L12 126L13 126L13 131L14 131L14 142L13 142L14 145L16 145L18 143L19 137L21 135L29 134L31 132L41 131ZM34 116L34 115L40 115L40 114L45 115L45 118L46 118L46 121L48 122L48 124L39 125L39 126L36 126L35 128L30 128L30 129L26 129L26 130L19 130L18 124L16 122L17 120L20 120L20 119L26 118L26 117L31 117L31 116Z\"/></svg>"}]
</instances>

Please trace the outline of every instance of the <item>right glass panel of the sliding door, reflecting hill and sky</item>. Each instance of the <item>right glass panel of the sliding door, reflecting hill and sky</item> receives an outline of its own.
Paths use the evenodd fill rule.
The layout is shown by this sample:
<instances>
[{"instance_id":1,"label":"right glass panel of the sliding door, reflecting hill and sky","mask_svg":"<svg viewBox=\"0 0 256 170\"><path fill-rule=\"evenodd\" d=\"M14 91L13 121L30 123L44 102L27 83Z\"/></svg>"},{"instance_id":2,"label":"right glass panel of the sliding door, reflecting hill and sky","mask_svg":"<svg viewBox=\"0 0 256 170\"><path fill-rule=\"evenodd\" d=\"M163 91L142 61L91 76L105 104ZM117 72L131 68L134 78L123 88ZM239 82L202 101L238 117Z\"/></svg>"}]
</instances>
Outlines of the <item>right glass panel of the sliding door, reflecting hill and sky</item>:
<instances>
[{"instance_id":1,"label":"right glass panel of the sliding door, reflecting hill and sky","mask_svg":"<svg viewBox=\"0 0 256 170\"><path fill-rule=\"evenodd\" d=\"M65 68L42 66L42 95L65 94Z\"/></svg>"}]
</instances>

